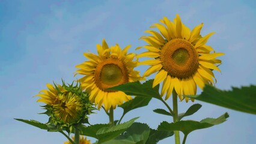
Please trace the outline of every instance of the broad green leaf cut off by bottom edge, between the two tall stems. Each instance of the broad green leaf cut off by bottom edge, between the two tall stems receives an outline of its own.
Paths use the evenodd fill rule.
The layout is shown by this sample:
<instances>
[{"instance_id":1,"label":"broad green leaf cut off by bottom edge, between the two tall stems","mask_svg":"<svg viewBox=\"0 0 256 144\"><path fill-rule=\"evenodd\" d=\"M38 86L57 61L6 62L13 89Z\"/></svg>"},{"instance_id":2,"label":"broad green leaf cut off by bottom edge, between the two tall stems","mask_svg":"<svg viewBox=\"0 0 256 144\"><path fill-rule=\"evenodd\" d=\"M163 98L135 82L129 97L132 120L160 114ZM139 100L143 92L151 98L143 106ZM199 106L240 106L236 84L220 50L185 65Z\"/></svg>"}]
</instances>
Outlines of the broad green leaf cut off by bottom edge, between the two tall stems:
<instances>
[{"instance_id":1,"label":"broad green leaf cut off by bottom edge, between the two tall stems","mask_svg":"<svg viewBox=\"0 0 256 144\"><path fill-rule=\"evenodd\" d=\"M150 127L147 124L141 124L135 122L131 127L127 128L123 134L116 137L113 140L109 140L104 144L135 144L147 142L148 136L150 135Z\"/></svg>"}]
</instances>

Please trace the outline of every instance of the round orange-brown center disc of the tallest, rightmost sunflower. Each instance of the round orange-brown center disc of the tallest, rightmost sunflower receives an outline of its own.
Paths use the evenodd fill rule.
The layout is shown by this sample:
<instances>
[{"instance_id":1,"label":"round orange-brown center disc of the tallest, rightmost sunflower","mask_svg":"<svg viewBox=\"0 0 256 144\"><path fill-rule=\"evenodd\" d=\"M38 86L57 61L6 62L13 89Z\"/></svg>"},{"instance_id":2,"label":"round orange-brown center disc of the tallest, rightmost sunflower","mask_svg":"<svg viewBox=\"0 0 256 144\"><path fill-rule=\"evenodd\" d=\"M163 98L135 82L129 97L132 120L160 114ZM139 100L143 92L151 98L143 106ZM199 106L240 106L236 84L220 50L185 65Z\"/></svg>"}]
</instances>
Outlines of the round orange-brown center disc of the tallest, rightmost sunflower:
<instances>
[{"instance_id":1,"label":"round orange-brown center disc of the tallest, rightmost sunflower","mask_svg":"<svg viewBox=\"0 0 256 144\"><path fill-rule=\"evenodd\" d=\"M175 38L160 53L163 68L180 79L192 76L198 68L198 53L189 41Z\"/></svg>"}]
</instances>

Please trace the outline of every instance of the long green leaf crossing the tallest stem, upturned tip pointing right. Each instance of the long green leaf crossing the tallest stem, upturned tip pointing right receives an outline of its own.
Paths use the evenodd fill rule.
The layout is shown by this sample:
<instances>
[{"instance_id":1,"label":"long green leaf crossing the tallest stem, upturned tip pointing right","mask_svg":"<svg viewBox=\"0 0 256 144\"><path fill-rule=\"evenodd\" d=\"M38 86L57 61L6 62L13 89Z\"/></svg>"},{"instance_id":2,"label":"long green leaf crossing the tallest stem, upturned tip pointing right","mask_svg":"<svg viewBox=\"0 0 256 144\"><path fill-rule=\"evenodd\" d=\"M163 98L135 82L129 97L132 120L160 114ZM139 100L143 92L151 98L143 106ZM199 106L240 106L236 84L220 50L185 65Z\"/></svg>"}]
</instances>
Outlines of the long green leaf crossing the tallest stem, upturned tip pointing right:
<instances>
[{"instance_id":1,"label":"long green leaf crossing the tallest stem, upturned tip pointing right","mask_svg":"<svg viewBox=\"0 0 256 144\"><path fill-rule=\"evenodd\" d=\"M228 113L225 113L222 116L219 116L219 118L206 118L202 121L178 121L175 123L168 123L166 121L163 121L157 130L160 131L182 131L185 135L189 134L191 131L199 130L202 128L208 128L212 127L213 125L221 124L222 122L226 121L228 118Z\"/></svg>"}]
</instances>

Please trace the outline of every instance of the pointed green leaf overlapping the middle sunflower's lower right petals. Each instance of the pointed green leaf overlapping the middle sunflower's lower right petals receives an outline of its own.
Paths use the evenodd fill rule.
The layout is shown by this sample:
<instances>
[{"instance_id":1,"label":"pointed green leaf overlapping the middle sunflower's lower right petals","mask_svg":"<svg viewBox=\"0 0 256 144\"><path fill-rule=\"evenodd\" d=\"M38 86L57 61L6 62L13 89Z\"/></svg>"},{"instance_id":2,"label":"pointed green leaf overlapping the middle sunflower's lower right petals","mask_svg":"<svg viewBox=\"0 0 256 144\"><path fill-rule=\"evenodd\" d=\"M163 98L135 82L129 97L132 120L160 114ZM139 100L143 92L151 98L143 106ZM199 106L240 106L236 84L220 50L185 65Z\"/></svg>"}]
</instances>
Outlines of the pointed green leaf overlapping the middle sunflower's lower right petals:
<instances>
[{"instance_id":1,"label":"pointed green leaf overlapping the middle sunflower's lower right petals","mask_svg":"<svg viewBox=\"0 0 256 144\"><path fill-rule=\"evenodd\" d=\"M123 91L127 95L136 95L138 97L147 97L147 98L157 98L161 100L161 96L159 94L159 85L153 86L153 79L147 80L145 83L141 84L139 81L124 83L122 85L114 86L112 88L108 88L111 90Z\"/></svg>"}]
</instances>

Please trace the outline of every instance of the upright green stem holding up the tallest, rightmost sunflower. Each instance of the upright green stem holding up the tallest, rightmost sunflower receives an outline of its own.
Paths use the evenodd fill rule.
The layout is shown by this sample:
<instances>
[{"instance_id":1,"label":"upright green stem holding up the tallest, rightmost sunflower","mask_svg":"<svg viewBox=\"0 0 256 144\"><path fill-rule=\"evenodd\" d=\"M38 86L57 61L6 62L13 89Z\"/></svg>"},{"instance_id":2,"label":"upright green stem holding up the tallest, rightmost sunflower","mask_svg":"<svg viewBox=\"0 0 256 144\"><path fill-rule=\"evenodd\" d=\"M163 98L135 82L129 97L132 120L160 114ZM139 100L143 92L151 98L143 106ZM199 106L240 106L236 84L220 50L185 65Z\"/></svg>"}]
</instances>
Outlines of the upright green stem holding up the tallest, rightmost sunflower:
<instances>
[{"instance_id":1,"label":"upright green stem holding up the tallest, rightmost sunflower","mask_svg":"<svg viewBox=\"0 0 256 144\"><path fill-rule=\"evenodd\" d=\"M174 115L173 117L173 122L178 121L178 97L176 91L172 91L172 105L173 105L173 112ZM175 144L180 144L180 132L179 131L174 131L174 136L175 136Z\"/></svg>"}]
</instances>

